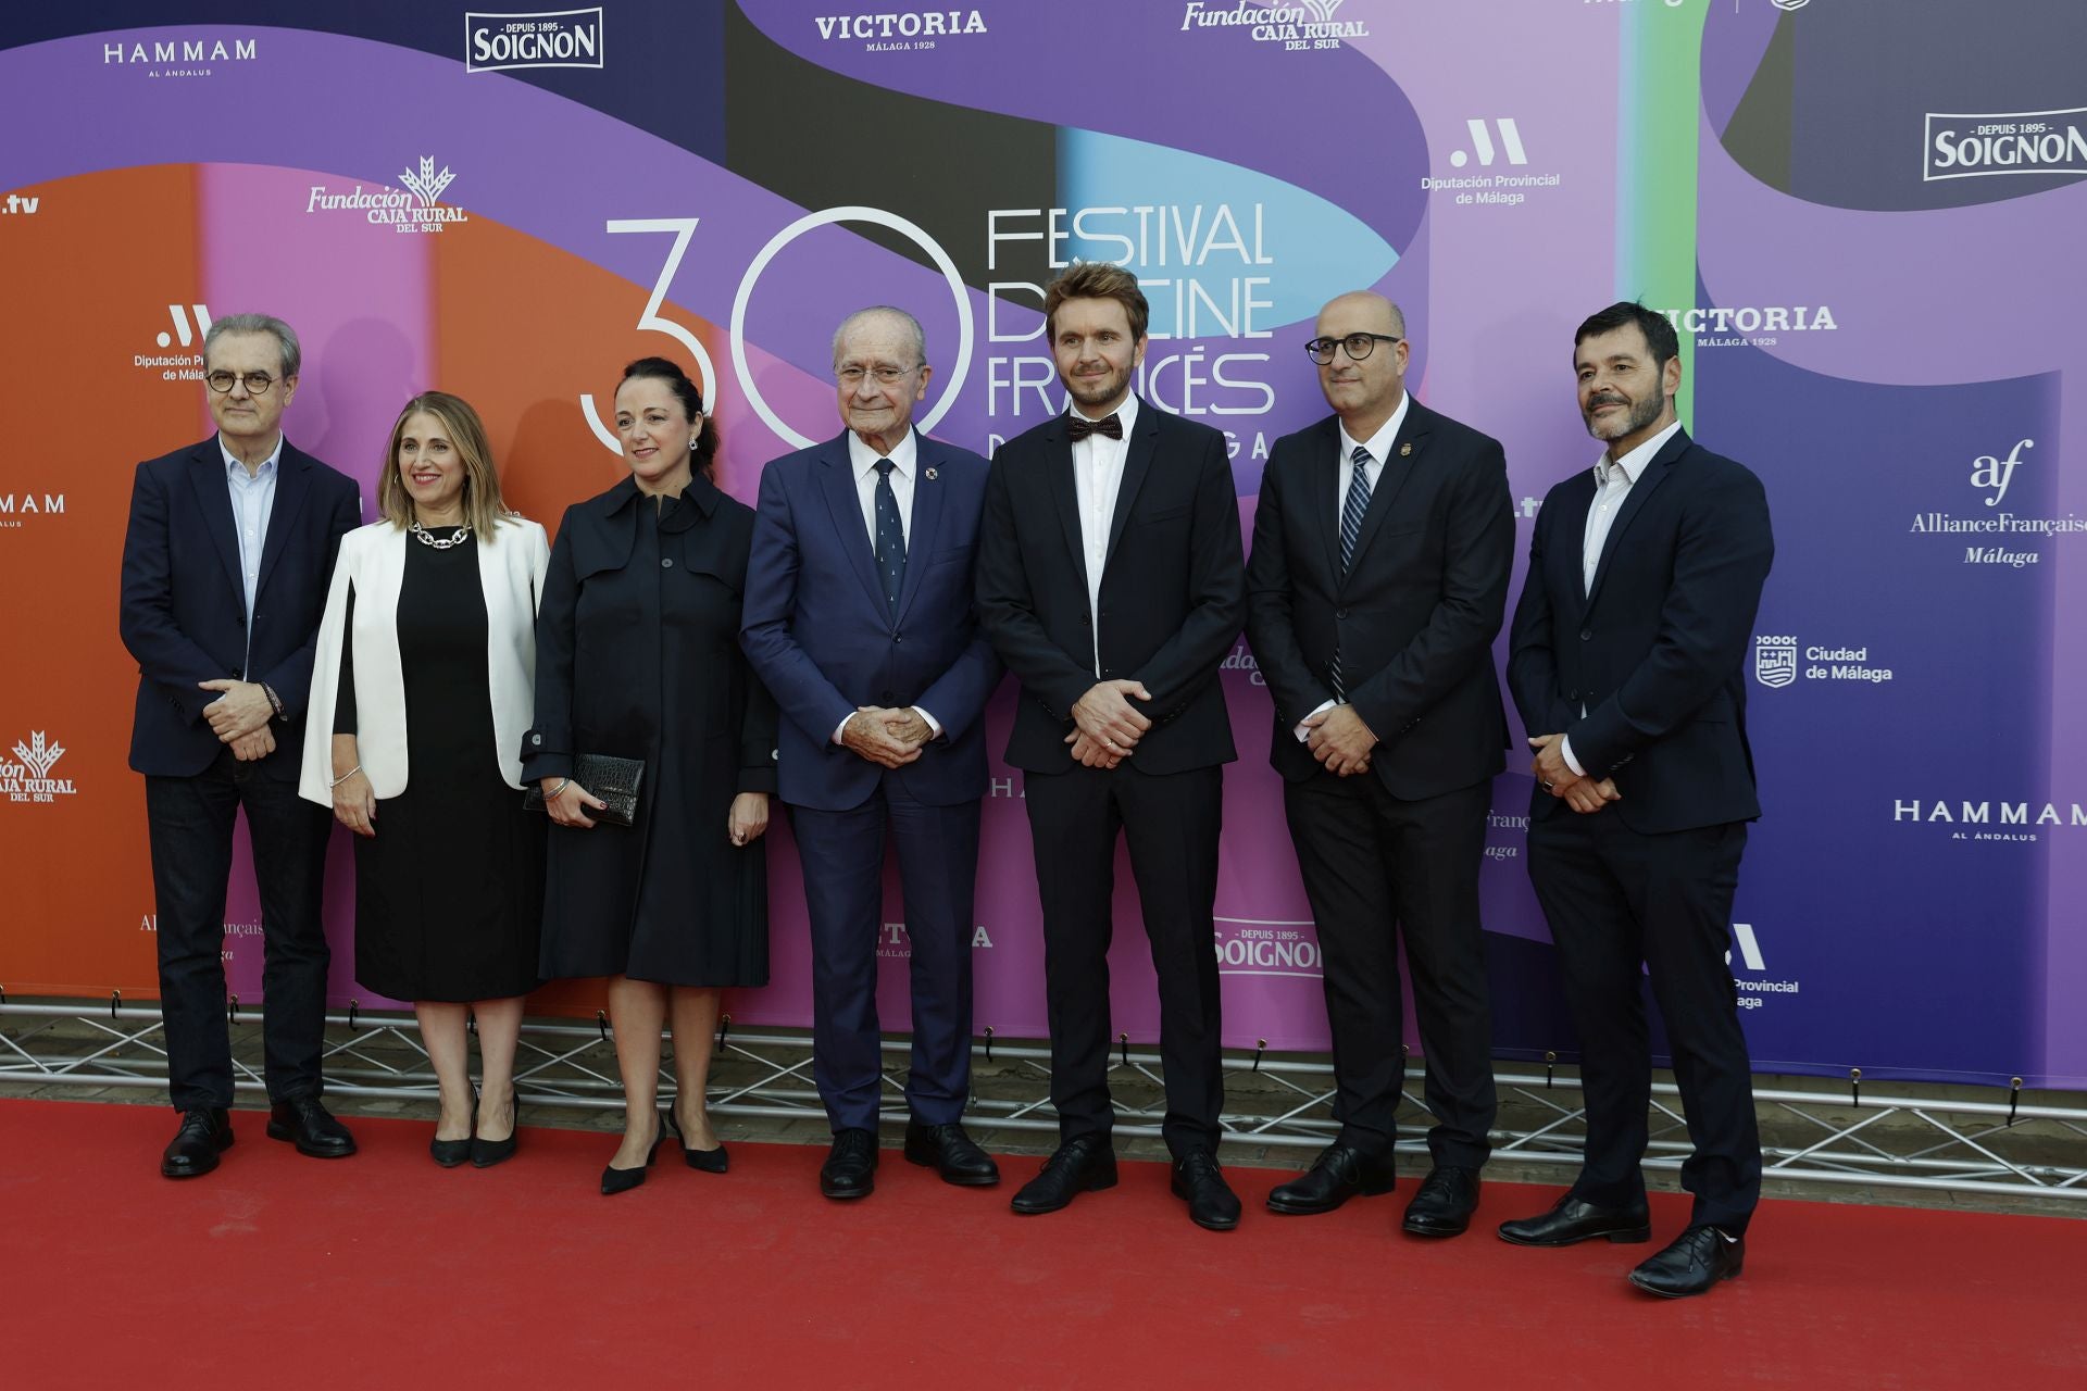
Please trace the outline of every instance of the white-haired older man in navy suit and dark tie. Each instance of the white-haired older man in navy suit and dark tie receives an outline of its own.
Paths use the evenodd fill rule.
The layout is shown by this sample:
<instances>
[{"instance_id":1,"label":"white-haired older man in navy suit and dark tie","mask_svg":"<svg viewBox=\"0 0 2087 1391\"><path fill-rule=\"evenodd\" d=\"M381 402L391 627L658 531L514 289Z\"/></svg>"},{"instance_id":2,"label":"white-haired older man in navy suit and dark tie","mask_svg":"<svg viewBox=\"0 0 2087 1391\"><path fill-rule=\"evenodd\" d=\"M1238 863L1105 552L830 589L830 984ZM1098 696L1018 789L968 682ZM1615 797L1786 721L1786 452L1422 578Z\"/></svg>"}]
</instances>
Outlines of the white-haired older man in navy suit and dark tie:
<instances>
[{"instance_id":1,"label":"white-haired older man in navy suit and dark tie","mask_svg":"<svg viewBox=\"0 0 2087 1391\"><path fill-rule=\"evenodd\" d=\"M820 1193L877 1185L877 941L885 836L912 945L906 1157L1000 1182L964 1134L985 699L1000 661L973 611L985 459L912 428L920 325L862 309L833 336L845 430L762 473L741 642L783 707L776 776L812 918L812 1072L833 1124Z\"/></svg>"}]
</instances>

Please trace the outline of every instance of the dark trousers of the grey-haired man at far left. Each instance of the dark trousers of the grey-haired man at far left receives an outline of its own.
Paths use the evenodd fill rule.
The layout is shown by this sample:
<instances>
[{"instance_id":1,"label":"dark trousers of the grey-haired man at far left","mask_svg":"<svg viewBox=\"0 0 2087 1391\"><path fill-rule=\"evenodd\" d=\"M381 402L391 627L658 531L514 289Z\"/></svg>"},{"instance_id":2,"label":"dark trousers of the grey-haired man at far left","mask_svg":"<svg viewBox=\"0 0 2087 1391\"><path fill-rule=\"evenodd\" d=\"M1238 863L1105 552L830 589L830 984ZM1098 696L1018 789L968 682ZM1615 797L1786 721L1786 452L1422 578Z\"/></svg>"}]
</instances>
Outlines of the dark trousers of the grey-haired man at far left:
<instances>
[{"instance_id":1,"label":"dark trousers of the grey-haired man at far left","mask_svg":"<svg viewBox=\"0 0 2087 1391\"><path fill-rule=\"evenodd\" d=\"M159 911L159 1007L167 1022L167 1078L175 1109L232 1105L225 1022L225 884L232 828L246 809L261 888L261 995L271 1101L319 1095L326 968L319 920L326 807L303 801L294 778L265 776L232 751L194 778L146 778L152 895Z\"/></svg>"}]
</instances>

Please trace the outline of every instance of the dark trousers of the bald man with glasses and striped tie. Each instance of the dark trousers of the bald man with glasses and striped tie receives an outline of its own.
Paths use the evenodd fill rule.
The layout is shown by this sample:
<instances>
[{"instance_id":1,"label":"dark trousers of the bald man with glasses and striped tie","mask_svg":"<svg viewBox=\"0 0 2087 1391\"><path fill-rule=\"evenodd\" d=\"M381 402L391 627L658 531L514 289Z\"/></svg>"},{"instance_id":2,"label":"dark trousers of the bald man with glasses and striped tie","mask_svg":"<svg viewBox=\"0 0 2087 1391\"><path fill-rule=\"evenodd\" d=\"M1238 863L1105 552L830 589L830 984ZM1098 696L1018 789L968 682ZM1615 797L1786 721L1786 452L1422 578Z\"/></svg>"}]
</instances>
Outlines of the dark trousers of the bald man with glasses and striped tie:
<instances>
[{"instance_id":1,"label":"dark trousers of the bald man with glasses and striped tie","mask_svg":"<svg viewBox=\"0 0 2087 1391\"><path fill-rule=\"evenodd\" d=\"M1428 1057L1436 1164L1482 1168L1498 1101L1478 916L1492 784L1400 801L1373 774L1284 784L1290 838L1325 953L1338 1143L1388 1157L1405 1082L1398 938Z\"/></svg>"}]
</instances>

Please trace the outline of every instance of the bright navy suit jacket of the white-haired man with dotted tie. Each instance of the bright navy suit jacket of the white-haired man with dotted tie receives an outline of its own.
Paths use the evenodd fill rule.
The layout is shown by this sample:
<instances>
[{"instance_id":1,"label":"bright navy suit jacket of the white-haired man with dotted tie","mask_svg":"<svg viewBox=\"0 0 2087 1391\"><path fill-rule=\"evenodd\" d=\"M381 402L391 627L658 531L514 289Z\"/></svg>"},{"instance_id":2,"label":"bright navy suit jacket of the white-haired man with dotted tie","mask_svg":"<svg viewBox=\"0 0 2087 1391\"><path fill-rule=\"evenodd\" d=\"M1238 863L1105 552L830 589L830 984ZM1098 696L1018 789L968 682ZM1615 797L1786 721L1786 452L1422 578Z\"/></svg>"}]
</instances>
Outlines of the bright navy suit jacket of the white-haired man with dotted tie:
<instances>
[{"instance_id":1,"label":"bright navy suit jacket of the white-haired man with dotted tie","mask_svg":"<svg viewBox=\"0 0 2087 1391\"><path fill-rule=\"evenodd\" d=\"M985 699L1000 659L973 607L973 557L987 463L914 434L912 519L897 611L885 603L847 436L783 455L762 471L747 561L747 659L776 705L783 801L860 807L881 778L927 805L985 797ZM860 705L918 705L941 724L906 767L833 742Z\"/></svg>"}]
</instances>

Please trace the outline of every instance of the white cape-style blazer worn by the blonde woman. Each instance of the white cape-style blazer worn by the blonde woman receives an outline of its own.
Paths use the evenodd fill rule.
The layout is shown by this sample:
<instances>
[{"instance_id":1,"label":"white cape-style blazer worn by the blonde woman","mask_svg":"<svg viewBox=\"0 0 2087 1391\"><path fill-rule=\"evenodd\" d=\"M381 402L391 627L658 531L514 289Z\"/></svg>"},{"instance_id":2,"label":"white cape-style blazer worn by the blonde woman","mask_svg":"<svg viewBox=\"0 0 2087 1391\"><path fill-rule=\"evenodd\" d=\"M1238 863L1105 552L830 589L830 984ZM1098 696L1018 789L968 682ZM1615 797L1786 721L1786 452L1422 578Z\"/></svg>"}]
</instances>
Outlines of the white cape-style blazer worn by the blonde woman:
<instances>
[{"instance_id":1,"label":"white cape-style blazer worn by the blonde woman","mask_svg":"<svg viewBox=\"0 0 2087 1391\"><path fill-rule=\"evenodd\" d=\"M405 672L399 665L399 588L405 548L417 544L390 521L340 538L334 588L311 659L305 711L305 767L298 795L332 807L334 701L340 690L340 642L355 584L355 749L378 797L405 790ZM509 517L478 538L478 584L486 594L486 682L493 690L493 742L507 786L522 788L522 734L536 705L536 603L551 544L543 528Z\"/></svg>"}]
</instances>

